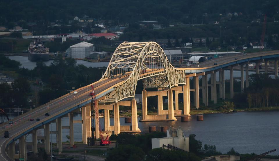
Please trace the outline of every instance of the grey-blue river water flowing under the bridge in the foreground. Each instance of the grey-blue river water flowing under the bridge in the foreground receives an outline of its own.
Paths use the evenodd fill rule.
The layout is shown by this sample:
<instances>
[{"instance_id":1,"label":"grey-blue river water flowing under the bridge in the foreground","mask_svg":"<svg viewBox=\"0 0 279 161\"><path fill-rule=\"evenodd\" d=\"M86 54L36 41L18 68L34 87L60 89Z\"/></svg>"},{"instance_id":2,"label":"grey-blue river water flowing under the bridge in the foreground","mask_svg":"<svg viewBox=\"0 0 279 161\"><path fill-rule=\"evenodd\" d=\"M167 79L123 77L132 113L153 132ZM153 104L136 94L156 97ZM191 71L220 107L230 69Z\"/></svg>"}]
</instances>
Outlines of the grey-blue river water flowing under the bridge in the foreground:
<instances>
[{"instance_id":1,"label":"grey-blue river water flowing under the bridge in the foreground","mask_svg":"<svg viewBox=\"0 0 279 161\"><path fill-rule=\"evenodd\" d=\"M183 128L184 134L196 134L196 139L203 145L211 144L217 147L217 151L228 152L234 148L239 153L264 153L272 149L279 149L279 111L273 112L237 112L237 113L219 113L205 114L204 121L196 121L196 117L189 117L188 122L178 121L160 121L160 122L139 122L138 126L144 133L148 132L149 126L172 126ZM74 116L75 120L81 120L81 114ZM140 118L138 118L140 119ZM100 118L101 128L103 128L103 118ZM113 125L113 118L110 118L110 125ZM120 118L120 125L125 124L124 118ZM62 119L62 126L69 126L67 117ZM56 124L52 124L52 129L56 129ZM159 128L158 128L159 129ZM37 131L39 136L44 136L44 130ZM66 135L69 135L69 129L62 129L63 142L67 141ZM82 125L74 124L74 139L82 141ZM31 135L27 137L31 141ZM56 142L56 135L53 135L52 141ZM271 153L279 155L279 151Z\"/></svg>"}]
</instances>

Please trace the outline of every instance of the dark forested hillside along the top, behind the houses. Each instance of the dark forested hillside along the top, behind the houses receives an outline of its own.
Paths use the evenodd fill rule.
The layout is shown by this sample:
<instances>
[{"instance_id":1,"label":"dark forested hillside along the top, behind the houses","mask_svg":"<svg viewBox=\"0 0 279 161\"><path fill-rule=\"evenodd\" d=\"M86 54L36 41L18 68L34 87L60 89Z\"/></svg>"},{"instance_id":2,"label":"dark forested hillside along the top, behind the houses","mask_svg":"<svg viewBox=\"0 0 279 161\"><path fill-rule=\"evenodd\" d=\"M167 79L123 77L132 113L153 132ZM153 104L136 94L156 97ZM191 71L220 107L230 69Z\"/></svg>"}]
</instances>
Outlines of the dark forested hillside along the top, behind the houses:
<instances>
[{"instance_id":1,"label":"dark forested hillside along the top, behind the houses","mask_svg":"<svg viewBox=\"0 0 279 161\"><path fill-rule=\"evenodd\" d=\"M229 12L236 12L250 22L262 14L278 20L278 11L278 0L1 0L0 25L22 19L40 24L68 22L84 15L115 23L157 20L161 24L206 24L219 21Z\"/></svg>"}]
</instances>

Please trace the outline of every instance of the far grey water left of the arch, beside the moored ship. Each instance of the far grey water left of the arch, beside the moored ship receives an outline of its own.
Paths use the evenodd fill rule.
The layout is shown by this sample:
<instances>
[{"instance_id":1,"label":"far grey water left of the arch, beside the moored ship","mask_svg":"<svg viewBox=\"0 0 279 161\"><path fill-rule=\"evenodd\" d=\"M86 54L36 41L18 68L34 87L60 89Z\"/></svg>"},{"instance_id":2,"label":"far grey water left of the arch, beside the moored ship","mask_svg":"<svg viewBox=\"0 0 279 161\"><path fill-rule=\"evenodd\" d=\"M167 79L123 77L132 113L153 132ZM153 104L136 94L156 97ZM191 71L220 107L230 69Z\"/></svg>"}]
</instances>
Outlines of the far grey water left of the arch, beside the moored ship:
<instances>
[{"instance_id":1,"label":"far grey water left of the arch, beside the moored ship","mask_svg":"<svg viewBox=\"0 0 279 161\"><path fill-rule=\"evenodd\" d=\"M27 68L27 69L34 69L36 67L36 62L31 62L28 60L27 56L8 56L11 60L19 61L22 65L21 67ZM49 66L53 60L49 60L44 62L47 66ZM76 64L83 64L86 67L107 67L108 62L87 62L83 60L76 60Z\"/></svg>"}]
</instances>

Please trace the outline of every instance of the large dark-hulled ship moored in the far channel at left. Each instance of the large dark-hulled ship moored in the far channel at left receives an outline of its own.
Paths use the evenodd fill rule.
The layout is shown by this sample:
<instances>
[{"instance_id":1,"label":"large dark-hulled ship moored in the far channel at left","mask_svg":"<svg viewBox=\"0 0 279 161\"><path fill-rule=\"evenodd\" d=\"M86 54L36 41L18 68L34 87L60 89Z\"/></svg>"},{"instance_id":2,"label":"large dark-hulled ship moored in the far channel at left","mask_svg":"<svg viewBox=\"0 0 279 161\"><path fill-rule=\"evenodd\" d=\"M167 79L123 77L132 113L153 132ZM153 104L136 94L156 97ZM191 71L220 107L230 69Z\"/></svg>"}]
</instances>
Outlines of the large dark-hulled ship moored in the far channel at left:
<instances>
[{"instance_id":1,"label":"large dark-hulled ship moored in the far channel at left","mask_svg":"<svg viewBox=\"0 0 279 161\"><path fill-rule=\"evenodd\" d=\"M49 48L46 48L40 39L33 40L30 43L28 52L28 60L31 62L49 60Z\"/></svg>"}]
</instances>

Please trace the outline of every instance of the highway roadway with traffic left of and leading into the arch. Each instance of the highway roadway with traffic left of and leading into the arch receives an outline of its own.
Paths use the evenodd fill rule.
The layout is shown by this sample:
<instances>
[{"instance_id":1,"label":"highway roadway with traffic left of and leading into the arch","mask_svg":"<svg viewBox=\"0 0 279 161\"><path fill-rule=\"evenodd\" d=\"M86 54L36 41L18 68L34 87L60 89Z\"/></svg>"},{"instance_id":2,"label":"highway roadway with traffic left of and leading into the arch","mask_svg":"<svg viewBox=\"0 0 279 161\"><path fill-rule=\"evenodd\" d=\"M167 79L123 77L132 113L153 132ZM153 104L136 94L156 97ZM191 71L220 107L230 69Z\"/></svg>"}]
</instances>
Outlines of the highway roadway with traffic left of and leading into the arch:
<instances>
[{"instance_id":1,"label":"highway roadway with traffic left of and leading into the arch","mask_svg":"<svg viewBox=\"0 0 279 161\"><path fill-rule=\"evenodd\" d=\"M123 76L122 76L123 77ZM102 95L104 92L113 88L115 85L124 82L128 76L124 76L124 78L106 78L103 81L98 81L93 83L94 91L96 96ZM87 91L88 90L88 91ZM66 94L61 96L47 104L44 104L36 109L33 109L19 117L12 119L14 122L12 125L7 123L1 124L1 137L0 137L0 160L1 161L10 161L11 159L6 155L5 147L13 138L18 135L26 132L30 128L42 124L42 122L47 121L54 115L59 115L72 107L84 102L86 100L90 100L91 96L89 93L91 92L91 86L88 85L86 87L82 87L77 89L78 94ZM47 107L50 107L48 110ZM45 113L49 113L50 116L45 116ZM30 116L30 117L29 117ZM28 119L33 118L34 121L29 121ZM36 121L37 118L40 118L40 121ZM9 131L10 138L4 138L4 131Z\"/></svg>"}]
</instances>

